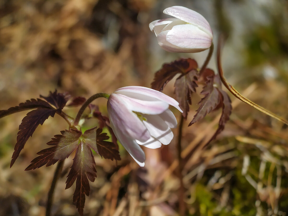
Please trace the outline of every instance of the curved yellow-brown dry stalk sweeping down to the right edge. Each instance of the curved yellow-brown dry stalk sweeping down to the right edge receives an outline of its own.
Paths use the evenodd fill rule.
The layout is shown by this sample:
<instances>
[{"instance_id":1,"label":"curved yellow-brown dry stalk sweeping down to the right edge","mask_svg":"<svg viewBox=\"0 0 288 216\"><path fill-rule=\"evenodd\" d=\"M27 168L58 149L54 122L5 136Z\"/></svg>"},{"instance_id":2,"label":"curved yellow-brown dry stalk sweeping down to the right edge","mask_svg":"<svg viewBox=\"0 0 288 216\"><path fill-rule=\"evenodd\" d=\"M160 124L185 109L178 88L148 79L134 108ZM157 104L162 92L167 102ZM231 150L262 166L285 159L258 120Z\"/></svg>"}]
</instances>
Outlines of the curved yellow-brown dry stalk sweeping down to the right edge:
<instances>
[{"instance_id":1,"label":"curved yellow-brown dry stalk sweeping down to the right edge","mask_svg":"<svg viewBox=\"0 0 288 216\"><path fill-rule=\"evenodd\" d=\"M222 38L219 37L218 40L218 48L217 48L217 67L218 67L218 73L219 73L219 77L223 83L223 85L236 97L238 98L240 101L243 101L244 103L249 104L250 106L258 109L259 111L261 111L262 113L265 113L266 115L271 116L272 118L275 118L281 122L283 122L284 124L288 125L288 121L281 118L280 116L272 113L271 111L259 106L258 104L250 101L249 99L245 98L244 96L242 96L231 84L229 84L227 82L227 80L225 79L224 75L223 75L223 70L222 70L222 66L221 66L221 40Z\"/></svg>"}]
</instances>

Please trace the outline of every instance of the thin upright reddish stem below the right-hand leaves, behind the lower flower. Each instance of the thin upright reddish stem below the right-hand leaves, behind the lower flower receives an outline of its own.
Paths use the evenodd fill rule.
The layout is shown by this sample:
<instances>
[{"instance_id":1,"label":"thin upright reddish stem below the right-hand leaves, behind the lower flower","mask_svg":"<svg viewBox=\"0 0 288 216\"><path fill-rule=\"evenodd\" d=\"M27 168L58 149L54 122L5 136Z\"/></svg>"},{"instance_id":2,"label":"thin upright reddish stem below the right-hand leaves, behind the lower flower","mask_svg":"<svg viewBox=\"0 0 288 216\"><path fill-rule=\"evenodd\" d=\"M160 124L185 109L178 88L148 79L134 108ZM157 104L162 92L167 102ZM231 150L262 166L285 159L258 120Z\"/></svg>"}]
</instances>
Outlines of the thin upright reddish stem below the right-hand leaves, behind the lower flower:
<instances>
[{"instance_id":1,"label":"thin upright reddish stem below the right-hand leaves, behind the lower flower","mask_svg":"<svg viewBox=\"0 0 288 216\"><path fill-rule=\"evenodd\" d=\"M180 180L180 189L179 189L179 214L180 215L185 215L186 212L186 205L184 202L184 183L183 183L183 175L182 175L182 170L183 170L183 161L181 158L181 152L182 152L182 147L181 147L181 140L182 140L182 128L183 128L183 123L184 123L184 117L181 115L181 120L179 123L179 133L178 133L178 143L177 143L177 151L178 151L178 161L179 161L179 180Z\"/></svg>"}]
</instances>

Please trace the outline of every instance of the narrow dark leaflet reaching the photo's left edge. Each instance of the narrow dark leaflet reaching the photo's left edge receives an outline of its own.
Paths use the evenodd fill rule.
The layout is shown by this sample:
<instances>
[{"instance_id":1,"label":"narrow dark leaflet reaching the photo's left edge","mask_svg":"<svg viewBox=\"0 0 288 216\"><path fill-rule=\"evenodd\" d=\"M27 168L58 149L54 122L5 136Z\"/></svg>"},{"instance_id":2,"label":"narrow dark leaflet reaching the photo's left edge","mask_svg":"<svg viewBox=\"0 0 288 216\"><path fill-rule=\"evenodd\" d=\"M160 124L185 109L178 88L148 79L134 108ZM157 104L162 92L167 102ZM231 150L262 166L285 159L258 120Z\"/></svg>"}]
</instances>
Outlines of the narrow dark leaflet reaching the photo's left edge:
<instances>
[{"instance_id":1,"label":"narrow dark leaflet reaching the photo's left edge","mask_svg":"<svg viewBox=\"0 0 288 216\"><path fill-rule=\"evenodd\" d=\"M52 109L51 105L47 103L46 101L43 101L41 99L31 99L30 101L27 100L25 103L20 103L19 106L16 107L10 107L7 110L0 110L0 118L3 118L6 115L10 115L13 113L21 112L24 110L29 109L37 109L37 108L50 108Z\"/></svg>"}]
</instances>

